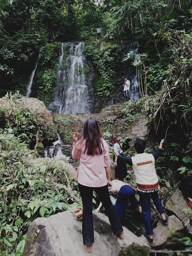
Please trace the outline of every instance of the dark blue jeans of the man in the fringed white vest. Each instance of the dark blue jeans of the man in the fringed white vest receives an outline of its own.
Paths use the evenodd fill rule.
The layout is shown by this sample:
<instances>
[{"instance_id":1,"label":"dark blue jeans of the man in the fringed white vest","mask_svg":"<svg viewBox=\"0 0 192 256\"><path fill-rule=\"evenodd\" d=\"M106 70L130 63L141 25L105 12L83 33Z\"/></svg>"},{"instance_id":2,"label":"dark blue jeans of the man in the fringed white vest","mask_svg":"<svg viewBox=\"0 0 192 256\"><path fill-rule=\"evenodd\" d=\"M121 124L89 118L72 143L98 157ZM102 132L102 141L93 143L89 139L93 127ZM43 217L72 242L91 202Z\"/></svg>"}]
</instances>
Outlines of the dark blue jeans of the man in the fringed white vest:
<instances>
[{"instance_id":1,"label":"dark blue jeans of the man in the fringed white vest","mask_svg":"<svg viewBox=\"0 0 192 256\"><path fill-rule=\"evenodd\" d=\"M138 191L139 199L141 203L142 208L142 216L143 221L145 225L145 229L147 231L147 235L153 234L153 228L152 228L152 221L151 221L151 200L152 198L157 211L159 211L160 214L164 213L163 206L161 204L161 200L159 198L158 192L152 192L152 193L143 193Z\"/></svg>"}]
</instances>

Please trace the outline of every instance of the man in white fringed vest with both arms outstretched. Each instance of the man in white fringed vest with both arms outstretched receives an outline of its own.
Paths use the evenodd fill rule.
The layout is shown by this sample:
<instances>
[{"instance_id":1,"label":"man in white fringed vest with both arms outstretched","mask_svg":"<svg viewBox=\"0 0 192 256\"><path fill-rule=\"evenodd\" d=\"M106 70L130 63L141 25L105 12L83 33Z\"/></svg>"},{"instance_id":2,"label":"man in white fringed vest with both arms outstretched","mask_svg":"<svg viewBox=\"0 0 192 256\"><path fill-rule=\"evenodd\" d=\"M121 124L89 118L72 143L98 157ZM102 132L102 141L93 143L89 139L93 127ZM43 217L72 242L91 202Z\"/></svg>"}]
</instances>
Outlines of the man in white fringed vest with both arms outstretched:
<instances>
[{"instance_id":1,"label":"man in white fringed vest with both arms outstretched","mask_svg":"<svg viewBox=\"0 0 192 256\"><path fill-rule=\"evenodd\" d=\"M145 225L145 227L143 227L143 235L150 243L153 242L151 198L154 201L156 209L161 215L163 223L165 225L168 224L168 216L163 210L163 206L158 195L159 182L155 169L155 161L161 154L163 142L164 139L161 140L159 148L156 150L156 152L150 154L144 153L146 148L145 141L143 139L136 139L134 141L134 150L136 152L134 157L123 157L122 155L116 153L114 148L112 148L113 152L118 157L118 161L123 161L133 167Z\"/></svg>"}]
</instances>

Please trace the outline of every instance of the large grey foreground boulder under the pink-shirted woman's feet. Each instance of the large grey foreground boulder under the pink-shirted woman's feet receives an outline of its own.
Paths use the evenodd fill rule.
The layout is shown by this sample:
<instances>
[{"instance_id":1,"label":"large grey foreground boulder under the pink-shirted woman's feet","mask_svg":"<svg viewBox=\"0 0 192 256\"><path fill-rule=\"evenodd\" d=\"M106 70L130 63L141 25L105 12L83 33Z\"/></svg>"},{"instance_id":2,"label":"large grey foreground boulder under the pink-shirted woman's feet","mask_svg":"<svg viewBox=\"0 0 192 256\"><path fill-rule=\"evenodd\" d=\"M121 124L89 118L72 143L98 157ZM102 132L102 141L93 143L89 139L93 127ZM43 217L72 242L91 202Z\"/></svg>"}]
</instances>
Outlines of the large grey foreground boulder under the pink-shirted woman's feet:
<instances>
[{"instance_id":1,"label":"large grey foreground boulder under the pink-shirted woman's feet","mask_svg":"<svg viewBox=\"0 0 192 256\"><path fill-rule=\"evenodd\" d=\"M95 242L92 256L150 254L150 246L144 237L137 237L123 227L124 238L121 240L113 234L107 216L93 212L93 220ZM33 220L27 231L22 256L84 256L85 254L82 221L76 218L73 209L69 209L49 218Z\"/></svg>"}]
</instances>

